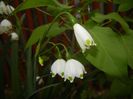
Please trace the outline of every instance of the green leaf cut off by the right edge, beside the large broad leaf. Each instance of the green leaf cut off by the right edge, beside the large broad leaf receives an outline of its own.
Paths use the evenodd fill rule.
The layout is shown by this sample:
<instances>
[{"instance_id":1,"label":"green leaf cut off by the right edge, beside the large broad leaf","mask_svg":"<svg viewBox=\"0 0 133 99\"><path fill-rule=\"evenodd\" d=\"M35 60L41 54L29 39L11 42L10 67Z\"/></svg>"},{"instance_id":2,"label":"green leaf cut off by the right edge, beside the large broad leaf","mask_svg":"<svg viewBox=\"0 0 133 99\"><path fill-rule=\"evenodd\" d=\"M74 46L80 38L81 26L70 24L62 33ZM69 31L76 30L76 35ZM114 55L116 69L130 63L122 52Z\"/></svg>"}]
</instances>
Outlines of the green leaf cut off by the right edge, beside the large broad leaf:
<instances>
[{"instance_id":1,"label":"green leaf cut off by the right edge, beside the large broad leaf","mask_svg":"<svg viewBox=\"0 0 133 99\"><path fill-rule=\"evenodd\" d=\"M129 30L127 34L121 37L128 54L128 65L133 69L133 30Z\"/></svg>"}]
</instances>

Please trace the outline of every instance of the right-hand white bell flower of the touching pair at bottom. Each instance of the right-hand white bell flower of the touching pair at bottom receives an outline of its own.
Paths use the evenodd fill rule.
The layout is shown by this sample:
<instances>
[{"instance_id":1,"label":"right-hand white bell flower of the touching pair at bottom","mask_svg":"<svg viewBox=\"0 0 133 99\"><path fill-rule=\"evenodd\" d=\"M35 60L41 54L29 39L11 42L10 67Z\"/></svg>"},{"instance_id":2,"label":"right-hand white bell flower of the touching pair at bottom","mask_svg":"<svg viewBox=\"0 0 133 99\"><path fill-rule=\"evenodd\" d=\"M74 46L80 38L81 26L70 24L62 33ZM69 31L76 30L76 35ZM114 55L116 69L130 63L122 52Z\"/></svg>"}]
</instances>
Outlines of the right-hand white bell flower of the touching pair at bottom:
<instances>
[{"instance_id":1,"label":"right-hand white bell flower of the touching pair at bottom","mask_svg":"<svg viewBox=\"0 0 133 99\"><path fill-rule=\"evenodd\" d=\"M72 83L75 77L83 79L84 73L87 73L84 66L79 61L70 59L66 62L64 80L68 79Z\"/></svg>"}]
</instances>

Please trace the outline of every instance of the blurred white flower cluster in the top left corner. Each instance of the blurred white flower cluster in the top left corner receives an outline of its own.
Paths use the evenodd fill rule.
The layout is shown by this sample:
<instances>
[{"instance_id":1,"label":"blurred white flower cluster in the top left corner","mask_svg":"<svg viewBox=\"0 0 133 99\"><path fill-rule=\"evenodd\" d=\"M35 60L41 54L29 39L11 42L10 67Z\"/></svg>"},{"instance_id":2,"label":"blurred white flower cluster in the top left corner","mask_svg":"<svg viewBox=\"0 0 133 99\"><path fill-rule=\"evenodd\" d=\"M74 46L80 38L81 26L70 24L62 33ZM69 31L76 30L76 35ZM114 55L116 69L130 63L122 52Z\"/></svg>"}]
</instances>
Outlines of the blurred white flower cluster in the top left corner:
<instances>
[{"instance_id":1,"label":"blurred white flower cluster in the top left corner","mask_svg":"<svg viewBox=\"0 0 133 99\"><path fill-rule=\"evenodd\" d=\"M6 5L3 1L0 1L0 14L9 15L14 11L14 7L11 5Z\"/></svg>"}]
</instances>

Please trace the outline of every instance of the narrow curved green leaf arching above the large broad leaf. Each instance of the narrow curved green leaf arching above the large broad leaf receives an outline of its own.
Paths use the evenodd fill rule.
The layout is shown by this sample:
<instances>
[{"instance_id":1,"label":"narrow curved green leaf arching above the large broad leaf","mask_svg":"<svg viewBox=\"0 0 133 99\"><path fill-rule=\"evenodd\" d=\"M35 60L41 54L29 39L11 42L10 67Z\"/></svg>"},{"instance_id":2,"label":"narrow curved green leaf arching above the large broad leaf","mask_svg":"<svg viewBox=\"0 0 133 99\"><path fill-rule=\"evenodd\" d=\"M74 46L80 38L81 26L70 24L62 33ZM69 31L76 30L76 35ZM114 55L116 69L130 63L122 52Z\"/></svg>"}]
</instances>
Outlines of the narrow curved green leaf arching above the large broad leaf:
<instances>
[{"instance_id":1,"label":"narrow curved green leaf arching above the large broad leaf","mask_svg":"<svg viewBox=\"0 0 133 99\"><path fill-rule=\"evenodd\" d=\"M117 21L121 24L122 28L126 32L128 32L128 30L129 30L129 26L126 23L126 21L118 13L115 13L115 12L107 14L107 15L103 15L103 14L100 14L100 13L95 13L95 15L94 15L94 17L92 17L92 19L94 21L96 21L97 23L102 23L106 19L115 20L115 21Z\"/></svg>"}]
</instances>

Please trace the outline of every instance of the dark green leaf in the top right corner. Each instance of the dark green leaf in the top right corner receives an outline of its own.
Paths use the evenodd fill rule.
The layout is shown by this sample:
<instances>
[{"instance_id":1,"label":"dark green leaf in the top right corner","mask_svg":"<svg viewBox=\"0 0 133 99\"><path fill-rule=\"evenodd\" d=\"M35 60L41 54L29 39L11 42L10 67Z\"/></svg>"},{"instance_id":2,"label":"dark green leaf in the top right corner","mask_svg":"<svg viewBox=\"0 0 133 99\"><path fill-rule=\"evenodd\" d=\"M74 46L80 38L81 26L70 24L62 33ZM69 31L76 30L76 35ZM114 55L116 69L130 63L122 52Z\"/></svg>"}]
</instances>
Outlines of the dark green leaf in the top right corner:
<instances>
[{"instance_id":1,"label":"dark green leaf in the top right corner","mask_svg":"<svg viewBox=\"0 0 133 99\"><path fill-rule=\"evenodd\" d=\"M125 0L119 6L119 11L128 11L133 8L133 1L132 0Z\"/></svg>"}]
</instances>

